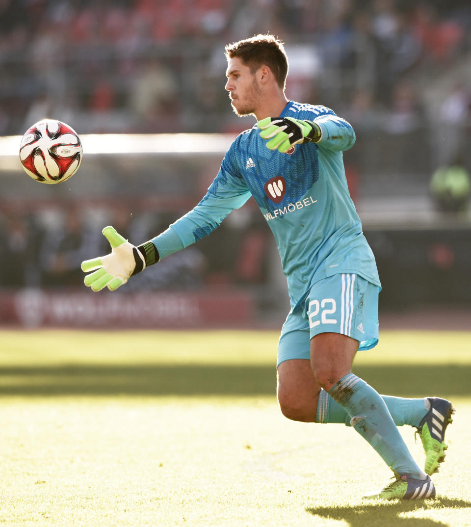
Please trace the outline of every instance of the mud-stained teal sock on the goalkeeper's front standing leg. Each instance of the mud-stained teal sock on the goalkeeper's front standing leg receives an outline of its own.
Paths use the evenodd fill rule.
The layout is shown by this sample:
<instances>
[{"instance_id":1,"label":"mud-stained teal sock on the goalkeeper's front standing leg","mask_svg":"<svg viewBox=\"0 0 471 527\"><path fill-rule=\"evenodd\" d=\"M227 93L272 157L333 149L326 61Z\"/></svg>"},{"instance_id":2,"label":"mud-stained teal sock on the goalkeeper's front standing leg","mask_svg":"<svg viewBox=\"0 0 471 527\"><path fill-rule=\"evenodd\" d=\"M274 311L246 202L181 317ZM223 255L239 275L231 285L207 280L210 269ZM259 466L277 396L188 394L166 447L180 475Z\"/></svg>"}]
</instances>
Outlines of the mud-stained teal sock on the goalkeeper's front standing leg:
<instances>
[{"instance_id":1,"label":"mud-stained teal sock on the goalkeeper's front standing leg","mask_svg":"<svg viewBox=\"0 0 471 527\"><path fill-rule=\"evenodd\" d=\"M386 403L374 388L350 373L329 390L351 418L351 425L376 450L384 462L399 474L425 479L399 434Z\"/></svg>"}]
</instances>

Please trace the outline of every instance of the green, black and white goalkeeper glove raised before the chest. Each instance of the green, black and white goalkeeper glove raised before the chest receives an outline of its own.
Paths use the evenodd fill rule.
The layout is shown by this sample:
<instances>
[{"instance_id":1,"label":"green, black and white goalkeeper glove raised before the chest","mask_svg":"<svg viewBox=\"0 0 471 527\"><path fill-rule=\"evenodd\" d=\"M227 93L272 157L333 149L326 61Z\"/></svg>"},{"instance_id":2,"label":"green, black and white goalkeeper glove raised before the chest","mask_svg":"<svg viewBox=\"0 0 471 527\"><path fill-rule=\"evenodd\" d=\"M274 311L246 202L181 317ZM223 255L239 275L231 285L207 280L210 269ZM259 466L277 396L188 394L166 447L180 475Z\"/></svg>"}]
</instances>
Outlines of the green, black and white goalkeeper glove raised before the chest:
<instances>
[{"instance_id":1,"label":"green, black and white goalkeeper glove raised before the chest","mask_svg":"<svg viewBox=\"0 0 471 527\"><path fill-rule=\"evenodd\" d=\"M270 139L267 148L285 153L295 144L317 143L322 137L320 126L313 121L301 121L292 117L267 117L258 121L260 137Z\"/></svg>"}]
</instances>

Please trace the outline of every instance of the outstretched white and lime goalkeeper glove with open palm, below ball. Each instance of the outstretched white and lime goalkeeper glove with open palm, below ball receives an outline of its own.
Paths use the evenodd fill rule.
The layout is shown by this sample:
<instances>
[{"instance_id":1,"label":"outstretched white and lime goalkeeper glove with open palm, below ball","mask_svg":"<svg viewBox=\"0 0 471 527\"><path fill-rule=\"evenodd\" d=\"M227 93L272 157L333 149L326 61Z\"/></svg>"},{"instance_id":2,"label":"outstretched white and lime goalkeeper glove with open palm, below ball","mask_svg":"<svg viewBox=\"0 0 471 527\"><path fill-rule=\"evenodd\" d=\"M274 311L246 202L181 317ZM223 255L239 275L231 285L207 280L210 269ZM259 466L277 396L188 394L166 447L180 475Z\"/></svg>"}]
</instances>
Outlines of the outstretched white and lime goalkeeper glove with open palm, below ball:
<instances>
[{"instance_id":1,"label":"outstretched white and lime goalkeeper glove with open palm, below ball","mask_svg":"<svg viewBox=\"0 0 471 527\"><path fill-rule=\"evenodd\" d=\"M93 291L100 291L104 287L114 291L131 276L159 261L159 252L151 241L134 247L110 226L103 229L103 234L110 242L111 253L82 262L82 271L96 269L84 279L84 284Z\"/></svg>"}]
</instances>

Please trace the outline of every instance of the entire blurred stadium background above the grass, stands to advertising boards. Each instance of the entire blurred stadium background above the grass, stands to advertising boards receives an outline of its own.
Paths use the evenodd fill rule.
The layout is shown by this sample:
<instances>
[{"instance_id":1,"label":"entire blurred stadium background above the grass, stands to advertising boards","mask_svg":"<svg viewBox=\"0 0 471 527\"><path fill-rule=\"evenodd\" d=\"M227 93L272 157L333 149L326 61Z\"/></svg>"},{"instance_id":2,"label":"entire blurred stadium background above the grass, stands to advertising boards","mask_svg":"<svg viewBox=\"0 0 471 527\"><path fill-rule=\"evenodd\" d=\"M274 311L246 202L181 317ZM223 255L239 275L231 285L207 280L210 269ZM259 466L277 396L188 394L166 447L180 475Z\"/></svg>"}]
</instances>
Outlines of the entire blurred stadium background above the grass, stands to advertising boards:
<instances>
[{"instance_id":1,"label":"entire blurred stadium background above the grass, stands to advertising boards","mask_svg":"<svg viewBox=\"0 0 471 527\"><path fill-rule=\"evenodd\" d=\"M440 201L430 188L439 168L471 171L464 0L1 1L3 326L279 326L286 285L252 200L122 292L92 294L80 271L108 251L105 225L140 243L199 201L224 144L253 125L230 109L223 46L259 32L286 42L288 97L329 106L357 132L345 164L378 262L381 316L469 328L469 190ZM44 116L84 137L130 135L118 153L92 153L102 141L87 136L80 171L45 186L6 146ZM172 152L125 152L144 141L134 134L169 133L222 135L198 136L200 152L197 136L181 135Z\"/></svg>"}]
</instances>

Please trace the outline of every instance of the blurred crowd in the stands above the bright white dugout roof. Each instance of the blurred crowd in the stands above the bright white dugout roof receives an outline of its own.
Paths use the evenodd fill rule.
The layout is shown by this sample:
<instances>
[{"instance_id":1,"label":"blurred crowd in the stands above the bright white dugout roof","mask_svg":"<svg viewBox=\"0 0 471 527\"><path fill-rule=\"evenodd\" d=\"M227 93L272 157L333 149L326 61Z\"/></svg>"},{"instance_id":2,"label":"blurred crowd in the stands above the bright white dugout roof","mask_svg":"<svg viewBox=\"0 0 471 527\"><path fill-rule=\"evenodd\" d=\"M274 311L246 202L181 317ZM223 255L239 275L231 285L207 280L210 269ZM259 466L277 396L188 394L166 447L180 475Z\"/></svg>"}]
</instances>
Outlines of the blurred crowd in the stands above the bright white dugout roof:
<instances>
[{"instance_id":1,"label":"blurred crowd in the stands above the bright white dugout roof","mask_svg":"<svg viewBox=\"0 0 471 527\"><path fill-rule=\"evenodd\" d=\"M287 44L291 99L365 123L394 114L400 133L430 112L424 87L471 50L471 4L1 0L0 135L22 134L44 114L82 134L240 130L223 89L223 46L259 32ZM441 93L449 119L469 105L467 81Z\"/></svg>"}]
</instances>

